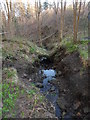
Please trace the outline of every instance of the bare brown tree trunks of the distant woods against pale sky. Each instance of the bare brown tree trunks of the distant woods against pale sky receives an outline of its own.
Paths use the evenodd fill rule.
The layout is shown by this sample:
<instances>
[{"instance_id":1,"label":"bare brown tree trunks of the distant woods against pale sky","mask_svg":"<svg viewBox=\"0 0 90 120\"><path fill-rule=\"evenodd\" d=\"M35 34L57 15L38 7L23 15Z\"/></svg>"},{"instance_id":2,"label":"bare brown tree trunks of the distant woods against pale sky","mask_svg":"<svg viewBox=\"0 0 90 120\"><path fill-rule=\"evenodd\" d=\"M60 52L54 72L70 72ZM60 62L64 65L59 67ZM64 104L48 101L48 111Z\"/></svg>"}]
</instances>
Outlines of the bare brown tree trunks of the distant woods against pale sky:
<instances>
[{"instance_id":1,"label":"bare brown tree trunks of the distant woods against pale sky","mask_svg":"<svg viewBox=\"0 0 90 120\"><path fill-rule=\"evenodd\" d=\"M77 42L77 36L79 31L79 21L81 13L84 13L86 2L82 0L73 0L73 42ZM41 0L35 0L34 6L31 5L30 1L27 0L25 5L22 0L5 0L1 4L2 14L2 29L9 34L13 35L25 35L29 34L28 31L37 29L37 41L42 46L42 19L43 14L47 11L54 11L55 13L55 26L58 30L59 26L59 42L63 40L65 33L65 21L67 11L67 0L60 0L59 2L53 2L52 4L45 1L41 4ZM60 18L58 18L60 16ZM50 16L48 16L50 17ZM47 18L45 18L47 19ZM59 24L60 23L60 24ZM23 28L23 29L21 29Z\"/></svg>"}]
</instances>

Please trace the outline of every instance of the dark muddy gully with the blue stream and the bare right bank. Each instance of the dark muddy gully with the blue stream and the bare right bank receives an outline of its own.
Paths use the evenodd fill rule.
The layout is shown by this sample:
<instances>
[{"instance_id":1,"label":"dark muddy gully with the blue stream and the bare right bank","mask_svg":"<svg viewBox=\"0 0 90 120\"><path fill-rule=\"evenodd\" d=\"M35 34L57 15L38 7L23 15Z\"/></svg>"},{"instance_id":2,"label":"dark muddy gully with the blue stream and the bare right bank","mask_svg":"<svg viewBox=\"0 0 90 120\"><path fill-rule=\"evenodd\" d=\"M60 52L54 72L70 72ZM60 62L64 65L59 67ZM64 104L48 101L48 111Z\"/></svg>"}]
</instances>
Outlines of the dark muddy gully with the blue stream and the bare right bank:
<instances>
[{"instance_id":1,"label":"dark muddy gully with the blue stream and the bare right bank","mask_svg":"<svg viewBox=\"0 0 90 120\"><path fill-rule=\"evenodd\" d=\"M87 119L89 116L87 70L80 75L82 64L78 53L64 56L60 62L56 60L53 62L52 57L48 59L42 56L39 59L37 75L39 79L35 84L54 106L56 117L65 120Z\"/></svg>"}]
</instances>

